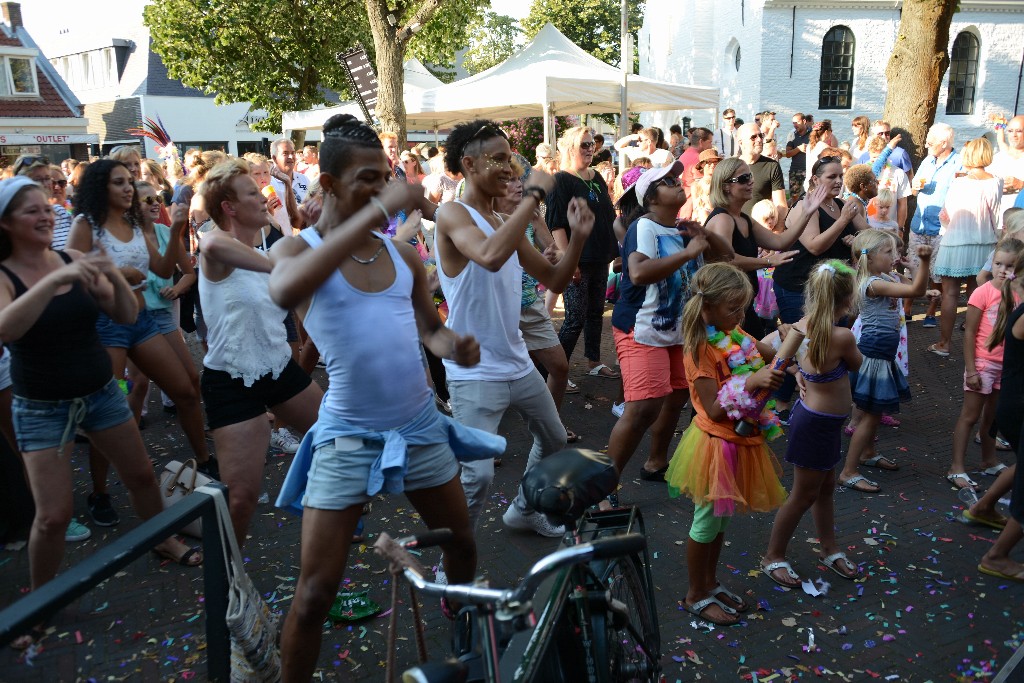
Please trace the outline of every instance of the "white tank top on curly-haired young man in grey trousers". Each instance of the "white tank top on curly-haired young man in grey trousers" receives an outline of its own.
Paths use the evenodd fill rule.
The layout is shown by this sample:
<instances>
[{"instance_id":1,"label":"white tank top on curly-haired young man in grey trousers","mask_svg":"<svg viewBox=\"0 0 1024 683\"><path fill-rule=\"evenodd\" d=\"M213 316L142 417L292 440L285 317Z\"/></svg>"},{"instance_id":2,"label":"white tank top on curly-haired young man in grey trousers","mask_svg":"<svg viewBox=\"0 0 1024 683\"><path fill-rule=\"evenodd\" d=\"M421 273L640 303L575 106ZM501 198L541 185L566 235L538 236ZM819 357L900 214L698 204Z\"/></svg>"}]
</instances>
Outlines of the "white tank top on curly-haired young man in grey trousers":
<instances>
[{"instance_id":1,"label":"white tank top on curly-haired young man in grey trousers","mask_svg":"<svg viewBox=\"0 0 1024 683\"><path fill-rule=\"evenodd\" d=\"M487 237L495 233L490 223L476 209L462 204ZM473 335L480 344L480 362L464 368L444 360L452 380L511 382L534 370L529 351L519 332L522 299L522 267L515 252L497 272L469 261L455 278L444 272L441 243L435 246L437 276L449 304L445 324L460 335Z\"/></svg>"}]
</instances>

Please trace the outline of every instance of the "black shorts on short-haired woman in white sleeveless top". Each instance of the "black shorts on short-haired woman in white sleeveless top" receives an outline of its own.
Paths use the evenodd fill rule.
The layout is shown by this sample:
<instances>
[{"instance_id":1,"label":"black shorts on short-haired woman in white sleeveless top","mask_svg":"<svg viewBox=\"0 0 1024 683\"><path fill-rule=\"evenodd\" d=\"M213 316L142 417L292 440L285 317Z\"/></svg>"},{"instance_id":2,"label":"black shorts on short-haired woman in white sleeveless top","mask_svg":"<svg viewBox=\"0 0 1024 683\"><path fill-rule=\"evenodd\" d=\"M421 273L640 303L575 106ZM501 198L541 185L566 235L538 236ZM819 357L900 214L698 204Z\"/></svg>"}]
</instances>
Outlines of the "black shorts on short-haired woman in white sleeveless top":
<instances>
[{"instance_id":1,"label":"black shorts on short-haired woman in white sleeveless top","mask_svg":"<svg viewBox=\"0 0 1024 683\"><path fill-rule=\"evenodd\" d=\"M200 386L207 423L210 429L218 429L252 420L263 415L266 409L302 393L310 382L309 376L292 359L288 360L278 379L267 374L251 387L222 370L203 368Z\"/></svg>"}]
</instances>

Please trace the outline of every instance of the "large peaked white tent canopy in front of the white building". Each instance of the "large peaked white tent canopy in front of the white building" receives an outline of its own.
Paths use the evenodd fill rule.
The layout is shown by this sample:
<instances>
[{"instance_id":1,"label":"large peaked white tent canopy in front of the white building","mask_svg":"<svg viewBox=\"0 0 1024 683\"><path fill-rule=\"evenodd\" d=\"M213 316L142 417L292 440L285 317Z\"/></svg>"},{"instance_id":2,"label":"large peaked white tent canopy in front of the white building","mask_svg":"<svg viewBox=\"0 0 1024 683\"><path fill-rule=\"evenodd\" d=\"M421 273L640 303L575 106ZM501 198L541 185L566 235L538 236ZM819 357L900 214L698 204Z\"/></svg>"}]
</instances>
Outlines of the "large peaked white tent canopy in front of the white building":
<instances>
[{"instance_id":1,"label":"large peaked white tent canopy in front of the white building","mask_svg":"<svg viewBox=\"0 0 1024 683\"><path fill-rule=\"evenodd\" d=\"M718 88L630 75L627 109L718 110ZM618 113L623 73L588 54L551 24L511 57L455 83L406 98L410 128L445 128L473 118L498 120Z\"/></svg>"}]
</instances>

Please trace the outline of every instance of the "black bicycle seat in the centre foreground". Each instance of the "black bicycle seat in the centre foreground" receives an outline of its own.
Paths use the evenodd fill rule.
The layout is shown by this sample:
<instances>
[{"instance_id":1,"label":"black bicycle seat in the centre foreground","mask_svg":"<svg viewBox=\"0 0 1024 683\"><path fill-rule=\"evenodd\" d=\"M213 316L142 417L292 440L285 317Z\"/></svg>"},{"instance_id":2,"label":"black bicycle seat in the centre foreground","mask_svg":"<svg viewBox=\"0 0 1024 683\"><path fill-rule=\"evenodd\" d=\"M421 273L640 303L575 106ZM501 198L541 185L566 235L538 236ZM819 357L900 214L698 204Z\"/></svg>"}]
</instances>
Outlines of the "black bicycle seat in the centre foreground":
<instances>
[{"instance_id":1,"label":"black bicycle seat in the centre foreground","mask_svg":"<svg viewBox=\"0 0 1024 683\"><path fill-rule=\"evenodd\" d=\"M526 503L553 522L570 524L615 489L618 473L611 458L588 449L553 453L526 472Z\"/></svg>"}]
</instances>

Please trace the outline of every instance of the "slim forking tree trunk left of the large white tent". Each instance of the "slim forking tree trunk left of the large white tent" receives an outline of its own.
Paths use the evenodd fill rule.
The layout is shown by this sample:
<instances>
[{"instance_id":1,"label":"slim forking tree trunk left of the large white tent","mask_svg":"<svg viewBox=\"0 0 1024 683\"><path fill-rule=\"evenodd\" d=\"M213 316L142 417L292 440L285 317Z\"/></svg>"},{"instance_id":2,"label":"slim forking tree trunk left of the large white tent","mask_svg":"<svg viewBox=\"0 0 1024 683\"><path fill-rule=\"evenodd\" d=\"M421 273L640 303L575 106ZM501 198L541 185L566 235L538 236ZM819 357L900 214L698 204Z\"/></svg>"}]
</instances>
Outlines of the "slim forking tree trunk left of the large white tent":
<instances>
[{"instance_id":1,"label":"slim forking tree trunk left of the large white tent","mask_svg":"<svg viewBox=\"0 0 1024 683\"><path fill-rule=\"evenodd\" d=\"M377 52L377 111L381 130L398 136L398 148L406 146L406 100L403 95L406 72L401 58L406 43L398 40L397 29L387 22L387 3L384 0L367 0L367 16L374 36Z\"/></svg>"}]
</instances>

